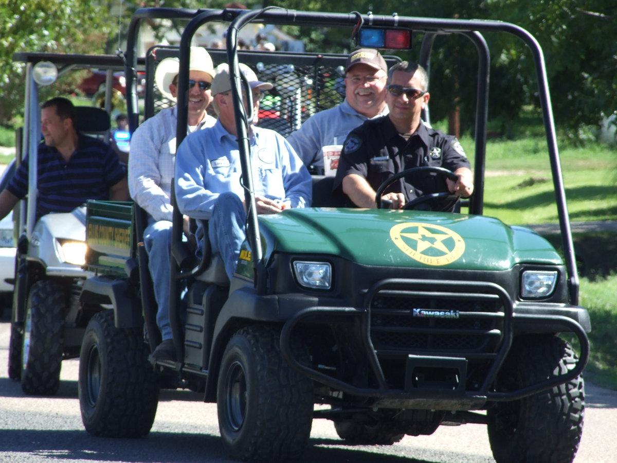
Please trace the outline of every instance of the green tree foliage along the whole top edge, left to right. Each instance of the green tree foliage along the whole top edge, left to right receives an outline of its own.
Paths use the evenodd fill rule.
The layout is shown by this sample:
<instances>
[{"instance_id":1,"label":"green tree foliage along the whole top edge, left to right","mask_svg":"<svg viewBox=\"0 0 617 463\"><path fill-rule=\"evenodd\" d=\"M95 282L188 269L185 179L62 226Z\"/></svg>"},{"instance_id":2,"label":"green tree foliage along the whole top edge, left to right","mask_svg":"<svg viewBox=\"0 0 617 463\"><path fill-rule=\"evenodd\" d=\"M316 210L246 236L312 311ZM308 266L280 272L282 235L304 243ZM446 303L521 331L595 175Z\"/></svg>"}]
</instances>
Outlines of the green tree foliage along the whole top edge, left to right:
<instances>
[{"instance_id":1,"label":"green tree foliage along the whole top edge, left to right","mask_svg":"<svg viewBox=\"0 0 617 463\"><path fill-rule=\"evenodd\" d=\"M226 0L212 0L209 8L223 7ZM242 2L248 8L283 2ZM118 14L122 6L122 36L138 7L204 7L197 0L155 0L123 2L107 0L0 0L0 123L10 122L20 108L23 66L11 62L15 51L114 52L118 47ZM600 113L617 108L617 41L613 24L617 4L611 0L410 0L395 2L342 0L333 7L325 0L288 0L289 9L399 15L494 19L511 22L529 30L544 49L555 120L567 129L571 143L595 138ZM180 31L181 23L172 21ZM155 36L164 37L169 26L152 22ZM308 51L349 51L351 28L325 30L313 27L285 27L305 41ZM421 34L413 36L411 52L403 59L417 60ZM489 117L503 133L526 104L537 106L533 59L521 40L504 34L487 34L491 52ZM454 107L460 109L463 132L472 133L476 101L476 50L461 36L439 36L431 57L431 117L441 120Z\"/></svg>"}]
</instances>

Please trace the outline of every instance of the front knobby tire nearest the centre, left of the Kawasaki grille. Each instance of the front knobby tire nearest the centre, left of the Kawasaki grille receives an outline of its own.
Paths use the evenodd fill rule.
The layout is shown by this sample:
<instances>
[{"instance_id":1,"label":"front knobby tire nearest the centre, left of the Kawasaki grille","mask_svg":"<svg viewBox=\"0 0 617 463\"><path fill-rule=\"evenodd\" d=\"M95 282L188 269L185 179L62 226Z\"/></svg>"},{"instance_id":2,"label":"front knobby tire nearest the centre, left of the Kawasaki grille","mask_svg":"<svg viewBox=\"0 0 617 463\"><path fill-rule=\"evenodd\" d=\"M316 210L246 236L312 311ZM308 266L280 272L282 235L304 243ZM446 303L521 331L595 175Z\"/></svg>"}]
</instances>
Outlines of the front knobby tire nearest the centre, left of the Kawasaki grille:
<instances>
[{"instance_id":1,"label":"front knobby tire nearest the centre, left of the Kawasaki grille","mask_svg":"<svg viewBox=\"0 0 617 463\"><path fill-rule=\"evenodd\" d=\"M294 342L299 359L307 359L307 350ZM309 443L312 381L281 357L275 330L246 327L232 336L221 362L217 406L223 445L234 459L299 459Z\"/></svg>"}]
</instances>

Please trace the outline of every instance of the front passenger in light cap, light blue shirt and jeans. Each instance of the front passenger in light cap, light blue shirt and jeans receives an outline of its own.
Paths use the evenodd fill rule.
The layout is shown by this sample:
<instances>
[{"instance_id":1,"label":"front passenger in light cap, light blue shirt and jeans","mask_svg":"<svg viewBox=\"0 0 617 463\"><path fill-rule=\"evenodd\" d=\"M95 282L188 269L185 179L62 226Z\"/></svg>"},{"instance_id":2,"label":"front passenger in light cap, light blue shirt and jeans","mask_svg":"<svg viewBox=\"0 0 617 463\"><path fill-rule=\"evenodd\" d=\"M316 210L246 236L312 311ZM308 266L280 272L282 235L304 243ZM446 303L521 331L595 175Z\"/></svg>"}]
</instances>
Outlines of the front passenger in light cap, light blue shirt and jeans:
<instances>
[{"instance_id":1,"label":"front passenger in light cap, light blue shirt and jeans","mask_svg":"<svg viewBox=\"0 0 617 463\"><path fill-rule=\"evenodd\" d=\"M251 167L257 214L278 214L289 207L310 206L312 181L309 171L289 143L273 130L255 127L262 90L271 83L260 82L241 64L240 70L252 90L253 115L249 129ZM209 220L208 234L199 225L199 248L209 239L212 253L225 262L230 278L236 270L240 246L245 238L246 205L241 185L236 122L231 82L226 64L217 68L212 82L217 123L187 136L178 148L175 194L180 212L194 219ZM247 99L245 97L245 107Z\"/></svg>"}]
</instances>

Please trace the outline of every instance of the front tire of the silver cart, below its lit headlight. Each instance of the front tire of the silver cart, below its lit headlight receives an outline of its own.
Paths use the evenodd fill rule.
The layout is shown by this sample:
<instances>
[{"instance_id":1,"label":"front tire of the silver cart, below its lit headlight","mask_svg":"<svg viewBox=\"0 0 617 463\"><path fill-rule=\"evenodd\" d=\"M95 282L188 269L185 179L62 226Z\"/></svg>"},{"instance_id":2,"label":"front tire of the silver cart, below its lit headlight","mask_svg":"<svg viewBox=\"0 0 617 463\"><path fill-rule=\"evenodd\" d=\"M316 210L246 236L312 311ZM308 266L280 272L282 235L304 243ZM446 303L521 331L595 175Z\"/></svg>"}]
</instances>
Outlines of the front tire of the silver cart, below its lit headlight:
<instances>
[{"instance_id":1,"label":"front tire of the silver cart, below its lit headlight","mask_svg":"<svg viewBox=\"0 0 617 463\"><path fill-rule=\"evenodd\" d=\"M22 339L22 390L52 396L60 387L65 292L51 280L30 288Z\"/></svg>"}]
</instances>

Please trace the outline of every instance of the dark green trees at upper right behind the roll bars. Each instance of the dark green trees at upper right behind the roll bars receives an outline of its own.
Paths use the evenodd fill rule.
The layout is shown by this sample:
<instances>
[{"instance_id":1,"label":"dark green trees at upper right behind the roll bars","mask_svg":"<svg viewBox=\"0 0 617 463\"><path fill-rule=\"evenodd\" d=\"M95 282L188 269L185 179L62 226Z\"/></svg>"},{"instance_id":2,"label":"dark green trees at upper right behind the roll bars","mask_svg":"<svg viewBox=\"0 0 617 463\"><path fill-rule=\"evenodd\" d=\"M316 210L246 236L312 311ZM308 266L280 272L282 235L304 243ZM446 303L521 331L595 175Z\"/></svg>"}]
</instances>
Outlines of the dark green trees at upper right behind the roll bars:
<instances>
[{"instance_id":1,"label":"dark green trees at upper right behind the roll bars","mask_svg":"<svg viewBox=\"0 0 617 463\"><path fill-rule=\"evenodd\" d=\"M324 0L288 0L286 6L329 11ZM600 114L617 109L617 40L613 29L617 4L613 0L411 0L402 4L382 0L342 0L339 11L358 10L365 14L415 15L462 19L494 19L511 22L528 30L542 46L555 120L570 133L585 125L595 125ZM328 33L323 44L340 46L349 41L347 31ZM302 36L318 36L319 31L302 31ZM323 35L323 34L322 34ZM415 35L419 43L421 37ZM532 73L531 54L520 40L503 34L486 36L491 51L489 117L507 124L520 114L524 104L535 104L537 82ZM340 47L339 47L340 48ZM340 50L337 50L340 51ZM419 54L414 47L412 56ZM460 105L463 127L473 120L476 51L457 37L439 38L431 58L431 115L439 120ZM413 59L413 58L412 58ZM463 76L463 78L461 78ZM470 98L471 97L471 98ZM470 105L471 102L471 105Z\"/></svg>"}]
</instances>

